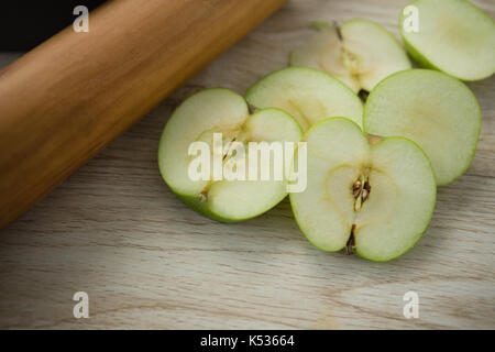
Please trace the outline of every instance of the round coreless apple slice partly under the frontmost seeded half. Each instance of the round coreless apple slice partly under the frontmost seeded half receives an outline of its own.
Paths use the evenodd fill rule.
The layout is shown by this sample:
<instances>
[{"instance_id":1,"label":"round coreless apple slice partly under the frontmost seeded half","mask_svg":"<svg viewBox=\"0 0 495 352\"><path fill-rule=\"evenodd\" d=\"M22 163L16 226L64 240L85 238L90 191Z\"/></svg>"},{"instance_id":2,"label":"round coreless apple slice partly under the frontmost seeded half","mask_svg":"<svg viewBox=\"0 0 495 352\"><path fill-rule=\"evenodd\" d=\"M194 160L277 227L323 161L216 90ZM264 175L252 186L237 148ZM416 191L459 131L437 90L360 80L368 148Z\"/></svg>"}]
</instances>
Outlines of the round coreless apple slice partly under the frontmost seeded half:
<instances>
[{"instance_id":1,"label":"round coreless apple slice partly under the frontmost seeded half","mask_svg":"<svg viewBox=\"0 0 495 352\"><path fill-rule=\"evenodd\" d=\"M481 130L476 98L460 80L430 69L385 78L364 108L364 131L408 138L426 152L439 186L452 183L471 164Z\"/></svg>"}]
</instances>

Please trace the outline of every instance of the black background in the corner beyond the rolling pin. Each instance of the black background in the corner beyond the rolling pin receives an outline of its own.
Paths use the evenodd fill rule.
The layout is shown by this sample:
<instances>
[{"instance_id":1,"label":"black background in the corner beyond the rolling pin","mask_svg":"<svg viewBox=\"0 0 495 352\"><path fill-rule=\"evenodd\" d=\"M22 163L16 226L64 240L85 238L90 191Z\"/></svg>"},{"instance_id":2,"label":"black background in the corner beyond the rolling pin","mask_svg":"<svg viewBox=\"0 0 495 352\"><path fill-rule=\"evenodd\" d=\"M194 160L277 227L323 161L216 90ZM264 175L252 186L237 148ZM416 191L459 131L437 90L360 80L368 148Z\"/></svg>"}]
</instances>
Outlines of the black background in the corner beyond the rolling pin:
<instances>
[{"instance_id":1,"label":"black background in the corner beyond the rolling pin","mask_svg":"<svg viewBox=\"0 0 495 352\"><path fill-rule=\"evenodd\" d=\"M91 11L105 0L2 0L0 6L0 51L29 51L77 18L74 8Z\"/></svg>"}]
</instances>

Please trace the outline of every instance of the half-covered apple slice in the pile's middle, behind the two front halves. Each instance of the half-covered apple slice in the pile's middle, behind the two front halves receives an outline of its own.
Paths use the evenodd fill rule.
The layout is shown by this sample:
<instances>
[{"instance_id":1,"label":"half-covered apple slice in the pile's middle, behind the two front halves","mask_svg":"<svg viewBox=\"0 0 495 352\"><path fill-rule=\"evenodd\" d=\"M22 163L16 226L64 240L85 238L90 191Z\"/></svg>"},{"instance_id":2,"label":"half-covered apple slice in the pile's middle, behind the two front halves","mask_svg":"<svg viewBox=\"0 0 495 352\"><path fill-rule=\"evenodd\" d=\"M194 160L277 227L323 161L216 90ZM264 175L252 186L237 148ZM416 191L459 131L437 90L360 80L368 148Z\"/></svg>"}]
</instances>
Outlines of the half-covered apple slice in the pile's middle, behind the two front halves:
<instances>
[{"instance_id":1,"label":"half-covered apple slice in the pile's middle, behind the two front halves","mask_svg":"<svg viewBox=\"0 0 495 352\"><path fill-rule=\"evenodd\" d=\"M346 86L314 68L288 67L255 82L245 98L255 108L280 108L307 130L331 117L348 117L362 125L363 105Z\"/></svg>"}]
</instances>

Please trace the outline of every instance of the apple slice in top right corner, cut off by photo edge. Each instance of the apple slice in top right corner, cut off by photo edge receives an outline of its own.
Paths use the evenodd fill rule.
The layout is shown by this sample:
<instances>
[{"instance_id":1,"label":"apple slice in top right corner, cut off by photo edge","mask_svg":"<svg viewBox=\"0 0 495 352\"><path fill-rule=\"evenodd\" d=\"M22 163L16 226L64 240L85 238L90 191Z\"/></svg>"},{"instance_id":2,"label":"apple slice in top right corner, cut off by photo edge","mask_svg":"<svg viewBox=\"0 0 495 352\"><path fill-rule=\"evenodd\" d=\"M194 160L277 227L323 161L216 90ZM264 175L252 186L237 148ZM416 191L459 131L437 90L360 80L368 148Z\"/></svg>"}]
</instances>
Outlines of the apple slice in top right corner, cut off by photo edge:
<instances>
[{"instance_id":1,"label":"apple slice in top right corner, cut off by photo edge","mask_svg":"<svg viewBox=\"0 0 495 352\"><path fill-rule=\"evenodd\" d=\"M495 72L495 22L470 1L413 1L399 23L409 54L422 66L462 80L483 79Z\"/></svg>"}]
</instances>

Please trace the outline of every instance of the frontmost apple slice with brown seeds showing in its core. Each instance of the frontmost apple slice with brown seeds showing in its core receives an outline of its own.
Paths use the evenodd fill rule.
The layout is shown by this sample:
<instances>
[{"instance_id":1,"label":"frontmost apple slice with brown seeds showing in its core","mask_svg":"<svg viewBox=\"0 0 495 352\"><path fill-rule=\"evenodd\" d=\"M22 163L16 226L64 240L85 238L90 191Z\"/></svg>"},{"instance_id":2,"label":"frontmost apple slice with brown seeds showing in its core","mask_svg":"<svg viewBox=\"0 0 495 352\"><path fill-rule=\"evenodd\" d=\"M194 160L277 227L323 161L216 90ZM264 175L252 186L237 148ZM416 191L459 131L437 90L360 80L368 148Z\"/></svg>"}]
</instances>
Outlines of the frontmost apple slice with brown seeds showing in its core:
<instances>
[{"instance_id":1,"label":"frontmost apple slice with brown seeds showing in its core","mask_svg":"<svg viewBox=\"0 0 495 352\"><path fill-rule=\"evenodd\" d=\"M425 233L436 202L430 162L414 142L371 144L344 118L309 129L308 185L290 194L300 230L315 246L345 249L377 262L407 252Z\"/></svg>"}]
</instances>

